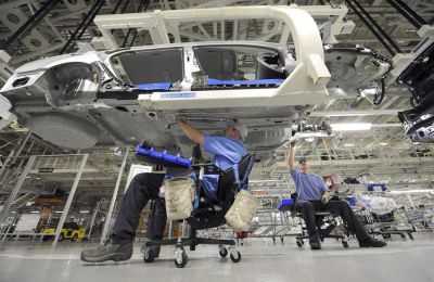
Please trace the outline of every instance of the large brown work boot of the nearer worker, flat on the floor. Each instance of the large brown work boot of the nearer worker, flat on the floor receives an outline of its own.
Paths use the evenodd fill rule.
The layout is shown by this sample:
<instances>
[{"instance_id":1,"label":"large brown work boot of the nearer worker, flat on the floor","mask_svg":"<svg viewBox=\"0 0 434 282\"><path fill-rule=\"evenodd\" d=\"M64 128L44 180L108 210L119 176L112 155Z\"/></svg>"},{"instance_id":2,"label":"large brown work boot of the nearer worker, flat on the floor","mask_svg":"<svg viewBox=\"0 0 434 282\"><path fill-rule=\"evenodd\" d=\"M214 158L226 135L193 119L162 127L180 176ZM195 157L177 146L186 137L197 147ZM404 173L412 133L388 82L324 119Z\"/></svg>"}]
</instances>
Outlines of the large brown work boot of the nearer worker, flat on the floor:
<instances>
[{"instance_id":1,"label":"large brown work boot of the nearer worker, flat on the floor","mask_svg":"<svg viewBox=\"0 0 434 282\"><path fill-rule=\"evenodd\" d=\"M106 260L127 260L132 255L132 240L111 235L110 239L97 248L81 252L80 259L87 262L102 262Z\"/></svg>"}]
</instances>

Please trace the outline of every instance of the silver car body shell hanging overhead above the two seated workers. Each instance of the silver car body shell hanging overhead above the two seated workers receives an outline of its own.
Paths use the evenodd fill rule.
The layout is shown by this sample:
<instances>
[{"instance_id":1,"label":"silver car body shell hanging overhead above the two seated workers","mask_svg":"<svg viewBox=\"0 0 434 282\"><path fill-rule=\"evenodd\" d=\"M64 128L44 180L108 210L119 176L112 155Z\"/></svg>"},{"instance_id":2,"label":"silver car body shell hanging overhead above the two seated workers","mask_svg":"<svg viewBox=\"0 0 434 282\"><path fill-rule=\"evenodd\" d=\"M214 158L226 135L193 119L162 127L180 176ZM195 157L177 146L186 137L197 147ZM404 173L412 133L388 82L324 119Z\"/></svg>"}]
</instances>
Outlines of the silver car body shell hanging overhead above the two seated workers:
<instances>
[{"instance_id":1,"label":"silver car body shell hanging overhead above the two seated workers","mask_svg":"<svg viewBox=\"0 0 434 282\"><path fill-rule=\"evenodd\" d=\"M355 89L369 86L370 78L355 74L345 77L346 85L339 82L335 66L352 66L357 59L334 51L326 55L326 64L337 72L331 87L340 84L345 98L357 97ZM91 51L24 65L1 94L20 124L62 148L149 142L188 156L191 141L170 126L183 114L204 133L220 132L226 120L241 120L250 129L248 150L267 158L288 141L309 105L328 99L330 74L327 68L309 74L315 62L297 60L290 47L246 41ZM371 70L371 78L384 75Z\"/></svg>"}]
</instances>

